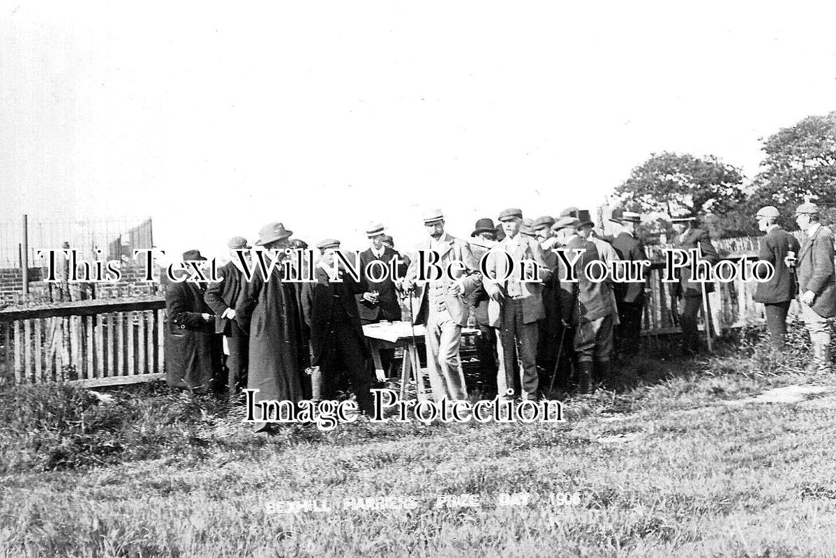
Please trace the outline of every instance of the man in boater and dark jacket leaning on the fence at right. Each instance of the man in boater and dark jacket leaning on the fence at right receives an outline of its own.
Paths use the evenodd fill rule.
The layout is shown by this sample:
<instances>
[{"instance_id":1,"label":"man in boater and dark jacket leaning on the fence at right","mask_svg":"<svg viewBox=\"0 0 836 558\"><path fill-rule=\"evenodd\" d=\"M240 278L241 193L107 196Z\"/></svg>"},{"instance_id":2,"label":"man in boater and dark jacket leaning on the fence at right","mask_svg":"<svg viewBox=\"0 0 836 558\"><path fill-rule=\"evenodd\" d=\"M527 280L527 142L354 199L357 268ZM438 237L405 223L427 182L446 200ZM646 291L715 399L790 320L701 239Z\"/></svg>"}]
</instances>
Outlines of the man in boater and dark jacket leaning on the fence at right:
<instances>
[{"instance_id":1,"label":"man in boater and dark jacket leaning on the fence at right","mask_svg":"<svg viewBox=\"0 0 836 558\"><path fill-rule=\"evenodd\" d=\"M708 261L712 266L720 261L720 256L713 244L708 231L693 226L695 217L680 215L670 219L677 235L674 237L674 248L690 251L699 248L701 260ZM671 295L680 299L682 303L680 324L682 327L682 354L686 357L694 356L700 348L700 338L696 332L696 314L700 312L703 290L706 297L714 292L713 282L691 281L691 270L686 268L676 270L678 282L673 283ZM706 316L706 327L711 327L711 316ZM706 330L707 331L707 330Z\"/></svg>"}]
</instances>

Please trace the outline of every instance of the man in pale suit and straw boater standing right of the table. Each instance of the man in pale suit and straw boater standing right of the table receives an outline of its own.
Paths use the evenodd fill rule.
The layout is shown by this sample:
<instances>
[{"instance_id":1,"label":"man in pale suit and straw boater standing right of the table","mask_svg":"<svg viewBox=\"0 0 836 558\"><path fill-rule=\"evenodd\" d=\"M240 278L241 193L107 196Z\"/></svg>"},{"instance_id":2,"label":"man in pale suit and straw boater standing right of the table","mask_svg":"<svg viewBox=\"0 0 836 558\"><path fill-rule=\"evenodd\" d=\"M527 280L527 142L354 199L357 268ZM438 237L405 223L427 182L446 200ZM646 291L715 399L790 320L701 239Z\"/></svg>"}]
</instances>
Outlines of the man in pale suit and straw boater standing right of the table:
<instances>
[{"instance_id":1,"label":"man in pale suit and straw boater standing right of the table","mask_svg":"<svg viewBox=\"0 0 836 558\"><path fill-rule=\"evenodd\" d=\"M417 308L411 317L413 322L426 324L426 365L433 398L463 400L467 398L467 388L459 358L461 327L466 325L470 313L466 297L482 281L482 274L471 246L444 231L441 210L426 212L424 226L429 238L411 258L404 287L406 292L417 291L412 304L413 309ZM443 272L440 279L433 277L431 281L419 276L421 253L430 261L431 252L439 256L436 263L442 271L453 261L461 262L451 266L452 281Z\"/></svg>"}]
</instances>

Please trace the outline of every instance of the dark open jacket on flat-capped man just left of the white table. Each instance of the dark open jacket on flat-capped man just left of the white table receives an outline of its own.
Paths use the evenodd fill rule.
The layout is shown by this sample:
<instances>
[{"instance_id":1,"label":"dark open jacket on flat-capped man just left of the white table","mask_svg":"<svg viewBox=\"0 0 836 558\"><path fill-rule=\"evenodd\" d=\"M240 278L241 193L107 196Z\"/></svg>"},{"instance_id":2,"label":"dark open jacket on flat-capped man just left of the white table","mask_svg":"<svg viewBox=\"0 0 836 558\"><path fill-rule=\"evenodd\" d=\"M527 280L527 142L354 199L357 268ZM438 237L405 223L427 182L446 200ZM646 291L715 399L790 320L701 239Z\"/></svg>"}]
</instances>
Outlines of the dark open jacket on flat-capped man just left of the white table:
<instances>
[{"instance_id":1,"label":"dark open jacket on flat-capped man just left of the white table","mask_svg":"<svg viewBox=\"0 0 836 558\"><path fill-rule=\"evenodd\" d=\"M323 349L329 342L329 329L334 316L334 302L343 304L343 311L349 317L357 350L365 358L371 358L369 348L366 347L363 327L360 325L357 302L354 298L359 292L364 292L361 283L355 282L348 273L342 273L342 282L331 282L328 273L320 266L314 270L316 282L304 283L302 287L302 306L305 322L310 327L311 366L318 366L323 356ZM339 297L334 294L339 292Z\"/></svg>"}]
</instances>

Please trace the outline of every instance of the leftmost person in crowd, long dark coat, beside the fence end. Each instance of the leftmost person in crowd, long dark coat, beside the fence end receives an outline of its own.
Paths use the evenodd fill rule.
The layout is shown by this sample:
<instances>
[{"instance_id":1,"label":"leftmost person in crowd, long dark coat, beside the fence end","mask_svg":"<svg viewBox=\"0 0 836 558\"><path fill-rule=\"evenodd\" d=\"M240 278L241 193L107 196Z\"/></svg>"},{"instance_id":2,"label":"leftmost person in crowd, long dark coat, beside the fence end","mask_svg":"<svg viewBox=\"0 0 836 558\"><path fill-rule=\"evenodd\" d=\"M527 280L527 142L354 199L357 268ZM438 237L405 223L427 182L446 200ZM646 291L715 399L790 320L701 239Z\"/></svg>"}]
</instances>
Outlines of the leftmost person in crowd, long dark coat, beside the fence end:
<instances>
[{"instance_id":1,"label":"leftmost person in crowd, long dark coat, beside the fence end","mask_svg":"<svg viewBox=\"0 0 836 558\"><path fill-rule=\"evenodd\" d=\"M183 261L206 261L200 251L183 253ZM166 287L166 382L176 388L205 392L221 370L221 337L203 295L206 283L171 282Z\"/></svg>"}]
</instances>

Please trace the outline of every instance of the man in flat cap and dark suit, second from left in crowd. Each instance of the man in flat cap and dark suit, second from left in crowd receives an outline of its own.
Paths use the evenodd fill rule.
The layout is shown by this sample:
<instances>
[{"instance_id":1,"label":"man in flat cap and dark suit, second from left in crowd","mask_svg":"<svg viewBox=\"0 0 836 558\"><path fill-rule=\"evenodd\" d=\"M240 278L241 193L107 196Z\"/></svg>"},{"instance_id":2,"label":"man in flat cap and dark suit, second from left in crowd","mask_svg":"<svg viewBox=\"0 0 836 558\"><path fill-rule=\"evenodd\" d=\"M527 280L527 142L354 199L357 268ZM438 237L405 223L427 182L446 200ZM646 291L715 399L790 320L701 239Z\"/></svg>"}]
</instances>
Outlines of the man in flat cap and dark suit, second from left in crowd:
<instances>
[{"instance_id":1,"label":"man in flat cap and dark suit, second from left in crowd","mask_svg":"<svg viewBox=\"0 0 836 558\"><path fill-rule=\"evenodd\" d=\"M215 312L215 332L227 337L227 391L232 396L239 388L247 385L247 357L250 348L249 337L235 321L235 308L243 287L241 261L237 251L249 250L252 246L247 244L243 236L233 236L227 246L230 261L218 270L221 281L209 285L204 299L212 312ZM249 261L248 253L245 258Z\"/></svg>"}]
</instances>

